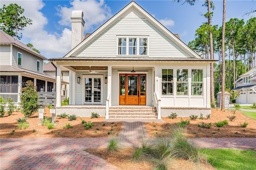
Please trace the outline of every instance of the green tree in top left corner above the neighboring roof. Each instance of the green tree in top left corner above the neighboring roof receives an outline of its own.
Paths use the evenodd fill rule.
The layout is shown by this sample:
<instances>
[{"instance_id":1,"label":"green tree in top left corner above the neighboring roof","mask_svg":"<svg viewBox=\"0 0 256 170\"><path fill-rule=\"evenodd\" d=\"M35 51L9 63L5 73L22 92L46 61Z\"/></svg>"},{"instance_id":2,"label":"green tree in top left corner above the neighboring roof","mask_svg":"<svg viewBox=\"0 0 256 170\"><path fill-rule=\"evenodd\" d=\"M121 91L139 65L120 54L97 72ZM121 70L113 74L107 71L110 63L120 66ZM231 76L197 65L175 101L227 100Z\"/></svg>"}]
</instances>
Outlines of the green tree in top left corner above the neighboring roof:
<instances>
[{"instance_id":1,"label":"green tree in top left corner above the neighboring roof","mask_svg":"<svg viewBox=\"0 0 256 170\"><path fill-rule=\"evenodd\" d=\"M22 33L18 35L18 31L32 24L31 19L22 15L23 12L24 9L17 4L3 5L0 8L0 29L16 39L21 39Z\"/></svg>"}]
</instances>

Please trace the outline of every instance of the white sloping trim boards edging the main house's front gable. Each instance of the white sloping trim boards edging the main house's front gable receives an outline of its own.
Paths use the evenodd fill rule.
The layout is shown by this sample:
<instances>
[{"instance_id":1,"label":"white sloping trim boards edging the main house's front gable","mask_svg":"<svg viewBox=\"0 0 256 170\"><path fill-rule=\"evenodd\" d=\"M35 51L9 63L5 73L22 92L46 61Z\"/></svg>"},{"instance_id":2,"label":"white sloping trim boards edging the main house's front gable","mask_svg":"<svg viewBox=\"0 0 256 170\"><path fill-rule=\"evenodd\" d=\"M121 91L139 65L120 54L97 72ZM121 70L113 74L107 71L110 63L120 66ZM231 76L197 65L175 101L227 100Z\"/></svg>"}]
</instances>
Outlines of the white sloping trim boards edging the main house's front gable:
<instances>
[{"instance_id":1,"label":"white sloping trim boards edging the main house's front gable","mask_svg":"<svg viewBox=\"0 0 256 170\"><path fill-rule=\"evenodd\" d=\"M112 23L114 23L117 19L120 18L122 14L124 14L126 11L128 11L130 8L134 7L139 12L141 12L143 15L145 15L145 18L148 19L149 22L154 24L159 30L161 30L167 37L169 37L175 44L180 46L185 52L190 54L193 58L202 58L199 56L196 52L194 52L191 48L189 48L183 41L181 41L177 36L175 36L170 30L168 30L166 27L164 27L163 24L161 24L159 21L157 21L152 15L150 15L147 11L145 11L140 5L135 3L134 1L127 4L124 8L122 8L121 11L119 11L117 14L112 16L108 21L103 23L101 27L99 27L97 30L95 30L91 35L88 35L84 38L84 40L79 43L76 47L70 50L64 57L70 57L75 52L77 52L79 49L83 48L87 43L89 43L91 40L93 40L95 37L100 35L102 31L104 31L106 28L109 27ZM85 35L86 36L86 35ZM53 58L52 58L53 60Z\"/></svg>"}]
</instances>

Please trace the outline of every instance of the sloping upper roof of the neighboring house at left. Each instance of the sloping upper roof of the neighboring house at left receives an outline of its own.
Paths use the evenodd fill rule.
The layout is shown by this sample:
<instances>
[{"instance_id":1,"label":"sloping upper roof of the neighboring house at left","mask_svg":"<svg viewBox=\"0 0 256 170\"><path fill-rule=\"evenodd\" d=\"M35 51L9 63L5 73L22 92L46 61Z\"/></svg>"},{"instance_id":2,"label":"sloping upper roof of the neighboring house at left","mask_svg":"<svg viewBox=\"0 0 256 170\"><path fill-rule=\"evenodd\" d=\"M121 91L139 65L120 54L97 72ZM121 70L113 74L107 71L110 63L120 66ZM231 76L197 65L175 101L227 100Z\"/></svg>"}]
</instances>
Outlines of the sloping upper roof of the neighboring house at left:
<instances>
[{"instance_id":1,"label":"sloping upper roof of the neighboring house at left","mask_svg":"<svg viewBox=\"0 0 256 170\"><path fill-rule=\"evenodd\" d=\"M39 54L39 53L35 52L33 49L31 49L30 47L21 43L21 41L19 41L19 40L13 38L12 36L8 35L3 30L0 30L0 44L12 44L14 46L17 46L18 48L26 50L27 52L42 58L43 60L47 60L47 58L45 58L42 54Z\"/></svg>"}]
</instances>

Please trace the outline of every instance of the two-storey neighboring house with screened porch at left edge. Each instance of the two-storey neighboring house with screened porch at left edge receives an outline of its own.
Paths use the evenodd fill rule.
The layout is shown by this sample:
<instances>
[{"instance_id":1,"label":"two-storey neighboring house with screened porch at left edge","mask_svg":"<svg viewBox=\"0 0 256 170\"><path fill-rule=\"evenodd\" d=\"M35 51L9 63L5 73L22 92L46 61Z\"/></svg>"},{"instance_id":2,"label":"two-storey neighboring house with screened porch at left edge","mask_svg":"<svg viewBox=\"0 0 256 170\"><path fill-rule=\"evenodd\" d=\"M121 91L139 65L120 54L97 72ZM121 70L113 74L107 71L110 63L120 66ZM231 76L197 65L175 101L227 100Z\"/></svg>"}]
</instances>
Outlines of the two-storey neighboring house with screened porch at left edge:
<instances>
[{"instance_id":1,"label":"two-storey neighboring house with screened porch at left edge","mask_svg":"<svg viewBox=\"0 0 256 170\"><path fill-rule=\"evenodd\" d=\"M43 73L43 55L0 30L0 97L20 102L20 91L28 80L37 91L54 91L55 78Z\"/></svg>"}]
</instances>

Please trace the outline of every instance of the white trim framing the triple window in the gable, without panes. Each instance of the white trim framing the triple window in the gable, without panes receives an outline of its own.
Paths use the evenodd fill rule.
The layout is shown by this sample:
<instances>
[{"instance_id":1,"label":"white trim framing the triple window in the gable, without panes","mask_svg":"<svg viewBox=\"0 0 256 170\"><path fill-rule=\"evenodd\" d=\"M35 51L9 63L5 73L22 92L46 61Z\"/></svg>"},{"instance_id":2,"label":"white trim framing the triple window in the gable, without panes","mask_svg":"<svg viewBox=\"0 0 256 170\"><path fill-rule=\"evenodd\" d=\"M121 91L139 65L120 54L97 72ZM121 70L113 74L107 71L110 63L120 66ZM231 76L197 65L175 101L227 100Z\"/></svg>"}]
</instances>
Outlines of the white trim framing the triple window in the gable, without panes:
<instances>
[{"instance_id":1,"label":"white trim framing the triple window in the gable, without panes","mask_svg":"<svg viewBox=\"0 0 256 170\"><path fill-rule=\"evenodd\" d=\"M126 38L126 54L118 54L118 38ZM137 38L137 54L136 55L129 55L129 38ZM147 38L147 55L139 55L140 52L140 38ZM149 36L117 36L116 37L116 56L138 56L138 57L147 57L149 56Z\"/></svg>"}]
</instances>

